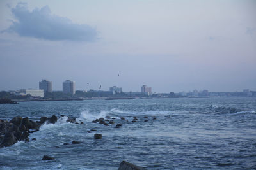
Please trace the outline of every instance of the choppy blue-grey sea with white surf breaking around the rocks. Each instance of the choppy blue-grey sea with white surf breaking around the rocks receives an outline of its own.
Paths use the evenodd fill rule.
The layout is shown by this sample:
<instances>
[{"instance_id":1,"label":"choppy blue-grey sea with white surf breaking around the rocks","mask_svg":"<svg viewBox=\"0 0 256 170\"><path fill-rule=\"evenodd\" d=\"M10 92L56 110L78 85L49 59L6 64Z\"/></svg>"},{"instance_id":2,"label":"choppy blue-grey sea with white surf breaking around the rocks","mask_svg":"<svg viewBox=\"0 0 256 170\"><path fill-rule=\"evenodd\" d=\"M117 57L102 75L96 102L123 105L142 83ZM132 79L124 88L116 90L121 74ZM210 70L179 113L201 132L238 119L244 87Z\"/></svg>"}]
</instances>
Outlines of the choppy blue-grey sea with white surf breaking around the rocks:
<instances>
[{"instance_id":1,"label":"choppy blue-grey sea with white surf breaking around the rocks","mask_svg":"<svg viewBox=\"0 0 256 170\"><path fill-rule=\"evenodd\" d=\"M0 149L0 169L118 169L123 160L147 169L256 169L255 111L256 98L241 97L2 104L1 119L54 114L84 124L63 117L42 125L29 143ZM122 127L92 123L106 116ZM95 133L103 138L95 140ZM63 145L73 140L81 143Z\"/></svg>"}]
</instances>

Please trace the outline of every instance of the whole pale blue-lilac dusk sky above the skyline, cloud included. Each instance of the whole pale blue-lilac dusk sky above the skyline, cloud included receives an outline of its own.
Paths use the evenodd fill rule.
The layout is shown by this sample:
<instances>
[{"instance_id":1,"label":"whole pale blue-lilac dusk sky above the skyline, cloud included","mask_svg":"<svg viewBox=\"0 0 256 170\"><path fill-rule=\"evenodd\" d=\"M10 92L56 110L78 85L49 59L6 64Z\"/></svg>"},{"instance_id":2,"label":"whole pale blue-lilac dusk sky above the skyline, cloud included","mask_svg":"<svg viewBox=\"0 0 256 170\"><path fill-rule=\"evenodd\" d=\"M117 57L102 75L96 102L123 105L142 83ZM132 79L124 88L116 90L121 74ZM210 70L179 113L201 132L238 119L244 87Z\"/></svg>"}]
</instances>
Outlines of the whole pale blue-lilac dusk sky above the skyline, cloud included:
<instances>
[{"instance_id":1,"label":"whole pale blue-lilac dusk sky above the skyline, cloud included","mask_svg":"<svg viewBox=\"0 0 256 170\"><path fill-rule=\"evenodd\" d=\"M0 1L0 90L256 90L256 1ZM118 76L119 74L119 76Z\"/></svg>"}]
</instances>

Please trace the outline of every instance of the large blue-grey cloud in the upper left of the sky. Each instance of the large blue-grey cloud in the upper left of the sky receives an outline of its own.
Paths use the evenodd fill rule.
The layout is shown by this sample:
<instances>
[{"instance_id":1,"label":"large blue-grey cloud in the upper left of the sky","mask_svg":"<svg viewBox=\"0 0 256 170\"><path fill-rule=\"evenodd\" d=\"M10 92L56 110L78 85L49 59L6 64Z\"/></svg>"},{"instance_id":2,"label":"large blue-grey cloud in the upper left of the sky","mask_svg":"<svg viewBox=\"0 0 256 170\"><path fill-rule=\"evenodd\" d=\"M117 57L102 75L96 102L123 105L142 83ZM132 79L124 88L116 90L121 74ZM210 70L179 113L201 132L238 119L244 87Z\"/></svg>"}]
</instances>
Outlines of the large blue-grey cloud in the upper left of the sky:
<instances>
[{"instance_id":1,"label":"large blue-grey cloud in the upper left of the sky","mask_svg":"<svg viewBox=\"0 0 256 170\"><path fill-rule=\"evenodd\" d=\"M29 11L26 3L18 3L12 8L17 21L2 32L17 32L20 36L52 41L95 41L97 30L89 25L74 24L65 17L52 15L49 6Z\"/></svg>"}]
</instances>

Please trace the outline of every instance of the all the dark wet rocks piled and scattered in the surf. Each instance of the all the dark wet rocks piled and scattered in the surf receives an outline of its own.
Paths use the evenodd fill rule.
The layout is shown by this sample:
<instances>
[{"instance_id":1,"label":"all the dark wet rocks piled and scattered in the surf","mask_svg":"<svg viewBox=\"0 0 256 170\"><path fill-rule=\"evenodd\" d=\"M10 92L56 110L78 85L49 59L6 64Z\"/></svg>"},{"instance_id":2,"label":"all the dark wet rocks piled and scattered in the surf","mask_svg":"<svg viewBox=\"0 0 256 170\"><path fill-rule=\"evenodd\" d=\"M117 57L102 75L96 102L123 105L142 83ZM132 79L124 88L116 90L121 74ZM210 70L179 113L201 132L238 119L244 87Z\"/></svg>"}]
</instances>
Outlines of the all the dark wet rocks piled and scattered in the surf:
<instances>
[{"instance_id":1,"label":"all the dark wet rocks piled and scattered in the surf","mask_svg":"<svg viewBox=\"0 0 256 170\"><path fill-rule=\"evenodd\" d=\"M40 127L44 124L55 124L58 119L61 117L67 117L65 115L61 115L59 118L55 115L52 115L52 117L41 117L38 121L30 120L28 117L14 117L12 120L8 122L8 120L1 120L0 119L0 148L3 147L9 147L17 143L18 141L24 141L29 142L29 134L33 132L39 131ZM148 117L144 117L145 121L148 122ZM115 124L114 120L116 118L106 116L105 118L99 118L92 121L92 123L99 123L105 126L109 125L115 125L115 128L122 127L122 124L118 122L118 124ZM155 120L156 117L152 117L152 120ZM124 117L120 117L121 121L128 122L128 120L125 120ZM136 122L138 120L136 117L133 118L132 123ZM76 118L70 118L67 117L66 122L72 123L72 124L84 124L83 122L77 122ZM88 133L96 132L96 129L90 129L90 131L87 131ZM94 139L102 139L102 134L94 134ZM31 139L36 140L35 138ZM72 143L63 143L63 145L76 145L80 144L80 141L72 141ZM55 160L54 157L44 155L42 160ZM144 169L143 167L136 166L134 164L131 164L129 162L121 162L119 168L120 170L129 170L129 169Z\"/></svg>"}]
</instances>

